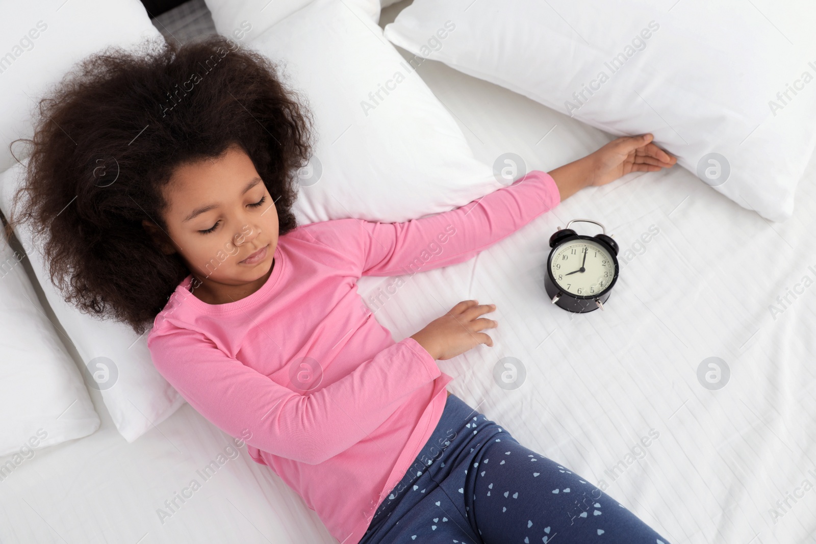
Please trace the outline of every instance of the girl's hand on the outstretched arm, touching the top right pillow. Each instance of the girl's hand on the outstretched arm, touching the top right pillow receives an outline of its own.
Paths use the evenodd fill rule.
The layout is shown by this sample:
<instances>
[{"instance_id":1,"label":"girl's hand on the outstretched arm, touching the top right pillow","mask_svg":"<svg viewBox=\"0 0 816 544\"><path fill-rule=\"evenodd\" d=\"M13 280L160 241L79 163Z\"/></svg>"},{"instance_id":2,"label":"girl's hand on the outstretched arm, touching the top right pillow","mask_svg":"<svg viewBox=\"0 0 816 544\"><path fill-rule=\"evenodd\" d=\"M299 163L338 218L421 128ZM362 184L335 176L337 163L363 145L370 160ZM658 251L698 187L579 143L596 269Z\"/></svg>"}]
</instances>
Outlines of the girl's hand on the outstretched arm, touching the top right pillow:
<instances>
[{"instance_id":1,"label":"girl's hand on the outstretched arm, touching the top right pillow","mask_svg":"<svg viewBox=\"0 0 816 544\"><path fill-rule=\"evenodd\" d=\"M644 134L612 140L587 157L592 163L590 185L605 185L629 172L656 172L677 162L663 149L652 144L654 136Z\"/></svg>"}]
</instances>

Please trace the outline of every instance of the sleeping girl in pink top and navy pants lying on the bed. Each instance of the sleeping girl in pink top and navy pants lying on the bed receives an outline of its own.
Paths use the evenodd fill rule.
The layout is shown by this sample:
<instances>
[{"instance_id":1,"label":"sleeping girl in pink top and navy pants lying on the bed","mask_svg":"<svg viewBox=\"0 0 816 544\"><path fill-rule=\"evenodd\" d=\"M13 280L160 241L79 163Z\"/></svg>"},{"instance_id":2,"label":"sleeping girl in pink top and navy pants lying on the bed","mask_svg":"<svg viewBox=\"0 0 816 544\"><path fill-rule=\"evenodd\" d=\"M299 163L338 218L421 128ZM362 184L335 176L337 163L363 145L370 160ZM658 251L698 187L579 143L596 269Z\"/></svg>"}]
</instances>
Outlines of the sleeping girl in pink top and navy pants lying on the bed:
<instances>
[{"instance_id":1,"label":"sleeping girl in pink top and navy pants lying on the bed","mask_svg":"<svg viewBox=\"0 0 816 544\"><path fill-rule=\"evenodd\" d=\"M313 120L273 63L227 38L91 56L40 117L11 224L42 237L67 301L147 332L158 372L338 542L668 544L447 391L437 360L493 346L494 304L463 300L394 342L356 287L404 273L439 236L424 269L471 259L583 187L674 165L651 135L423 219L297 224Z\"/></svg>"}]
</instances>

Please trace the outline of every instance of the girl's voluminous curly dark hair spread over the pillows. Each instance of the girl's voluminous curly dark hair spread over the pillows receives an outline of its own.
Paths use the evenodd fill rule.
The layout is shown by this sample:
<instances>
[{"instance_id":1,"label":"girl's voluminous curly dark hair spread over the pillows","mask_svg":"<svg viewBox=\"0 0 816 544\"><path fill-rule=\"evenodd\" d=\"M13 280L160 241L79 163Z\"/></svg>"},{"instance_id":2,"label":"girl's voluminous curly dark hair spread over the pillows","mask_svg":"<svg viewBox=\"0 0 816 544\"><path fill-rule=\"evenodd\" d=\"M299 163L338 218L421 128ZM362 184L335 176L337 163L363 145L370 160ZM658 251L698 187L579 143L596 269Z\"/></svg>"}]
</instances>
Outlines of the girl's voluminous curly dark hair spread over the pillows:
<instances>
[{"instance_id":1,"label":"girl's voluminous curly dark hair spread over the pillows","mask_svg":"<svg viewBox=\"0 0 816 544\"><path fill-rule=\"evenodd\" d=\"M166 232L162 187L175 166L239 144L275 202L279 233L297 227L295 172L313 120L296 98L272 61L221 36L91 55L40 101L33 139L16 140L32 153L8 228L28 223L44 236L66 302L143 334L190 273L142 226Z\"/></svg>"}]
</instances>

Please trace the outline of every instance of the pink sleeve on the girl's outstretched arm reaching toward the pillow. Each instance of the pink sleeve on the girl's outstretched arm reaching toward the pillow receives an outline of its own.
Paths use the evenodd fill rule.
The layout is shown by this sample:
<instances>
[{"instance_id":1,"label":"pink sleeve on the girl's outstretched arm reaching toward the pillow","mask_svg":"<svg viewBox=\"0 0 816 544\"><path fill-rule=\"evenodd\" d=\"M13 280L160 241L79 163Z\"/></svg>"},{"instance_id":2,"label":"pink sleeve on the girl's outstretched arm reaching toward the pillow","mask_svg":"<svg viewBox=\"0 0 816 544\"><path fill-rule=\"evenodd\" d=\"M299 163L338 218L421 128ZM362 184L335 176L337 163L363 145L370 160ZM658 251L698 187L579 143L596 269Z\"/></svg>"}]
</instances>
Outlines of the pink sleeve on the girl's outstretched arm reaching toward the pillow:
<instances>
[{"instance_id":1,"label":"pink sleeve on the girl's outstretched arm reaching toward the pillow","mask_svg":"<svg viewBox=\"0 0 816 544\"><path fill-rule=\"evenodd\" d=\"M405 223L340 219L334 228L347 247L357 242L352 247L364 261L361 276L397 276L466 261L560 201L552 177L533 170L455 210Z\"/></svg>"}]
</instances>

